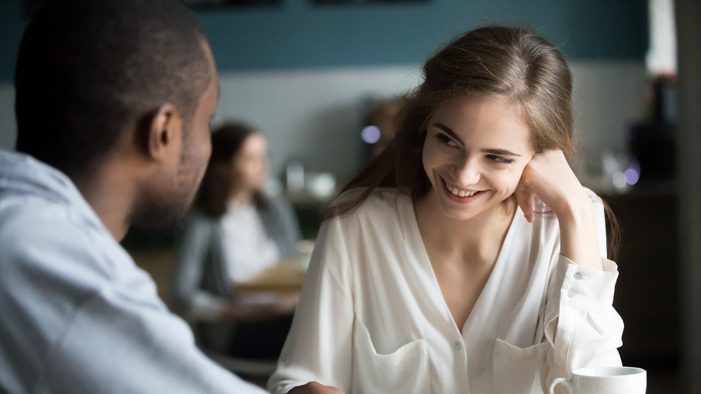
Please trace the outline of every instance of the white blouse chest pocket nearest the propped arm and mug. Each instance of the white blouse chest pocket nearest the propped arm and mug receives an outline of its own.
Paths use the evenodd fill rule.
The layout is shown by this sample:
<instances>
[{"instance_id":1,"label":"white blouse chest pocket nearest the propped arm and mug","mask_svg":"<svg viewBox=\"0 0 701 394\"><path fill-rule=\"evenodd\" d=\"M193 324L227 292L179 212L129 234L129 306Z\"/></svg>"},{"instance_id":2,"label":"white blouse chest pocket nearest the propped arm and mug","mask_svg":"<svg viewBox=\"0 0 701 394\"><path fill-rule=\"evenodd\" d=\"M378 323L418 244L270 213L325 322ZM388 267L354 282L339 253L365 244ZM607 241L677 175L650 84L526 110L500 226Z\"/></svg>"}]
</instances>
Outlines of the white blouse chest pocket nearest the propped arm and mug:
<instances>
[{"instance_id":1,"label":"white blouse chest pocket nearest the propped arm and mug","mask_svg":"<svg viewBox=\"0 0 701 394\"><path fill-rule=\"evenodd\" d=\"M519 348L501 339L494 343L492 386L495 394L543 393L540 380L547 374L547 349L542 342Z\"/></svg>"}]
</instances>

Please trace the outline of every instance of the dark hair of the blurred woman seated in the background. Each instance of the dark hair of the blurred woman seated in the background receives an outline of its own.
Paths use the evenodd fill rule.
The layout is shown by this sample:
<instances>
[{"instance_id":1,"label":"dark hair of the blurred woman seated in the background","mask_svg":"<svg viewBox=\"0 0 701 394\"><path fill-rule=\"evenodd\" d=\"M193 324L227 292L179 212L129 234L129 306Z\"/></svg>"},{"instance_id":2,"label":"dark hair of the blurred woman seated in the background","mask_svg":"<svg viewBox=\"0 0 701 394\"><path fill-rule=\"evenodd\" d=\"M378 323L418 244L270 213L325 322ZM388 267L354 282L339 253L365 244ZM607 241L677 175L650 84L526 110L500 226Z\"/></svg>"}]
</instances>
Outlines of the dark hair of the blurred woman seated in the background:
<instances>
[{"instance_id":1,"label":"dark hair of the blurred woman seated in the background","mask_svg":"<svg viewBox=\"0 0 701 394\"><path fill-rule=\"evenodd\" d=\"M195 201L196 206L207 216L221 218L226 213L233 180L222 174L222 166L231 167L232 160L240 153L243 143L253 134L257 134L256 129L236 122L226 123L212 132L212 156ZM261 192L254 193L253 202L259 209L267 206Z\"/></svg>"}]
</instances>

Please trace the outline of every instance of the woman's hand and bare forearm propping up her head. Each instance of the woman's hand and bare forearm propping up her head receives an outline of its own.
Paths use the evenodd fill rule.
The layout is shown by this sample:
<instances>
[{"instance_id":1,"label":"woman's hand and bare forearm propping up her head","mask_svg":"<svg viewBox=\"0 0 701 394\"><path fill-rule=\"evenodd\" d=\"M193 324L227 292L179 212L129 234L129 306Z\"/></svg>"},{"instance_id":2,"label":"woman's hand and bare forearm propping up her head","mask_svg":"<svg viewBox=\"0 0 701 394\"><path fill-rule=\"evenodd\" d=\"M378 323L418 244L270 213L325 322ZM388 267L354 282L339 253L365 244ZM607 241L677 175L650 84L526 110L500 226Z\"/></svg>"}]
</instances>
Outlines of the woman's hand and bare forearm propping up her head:
<instances>
[{"instance_id":1,"label":"woman's hand and bare forearm propping up her head","mask_svg":"<svg viewBox=\"0 0 701 394\"><path fill-rule=\"evenodd\" d=\"M533 223L536 196L557 216L560 254L588 267L603 269L594 204L569 167L562 150L536 153L516 188L516 201Z\"/></svg>"}]
</instances>

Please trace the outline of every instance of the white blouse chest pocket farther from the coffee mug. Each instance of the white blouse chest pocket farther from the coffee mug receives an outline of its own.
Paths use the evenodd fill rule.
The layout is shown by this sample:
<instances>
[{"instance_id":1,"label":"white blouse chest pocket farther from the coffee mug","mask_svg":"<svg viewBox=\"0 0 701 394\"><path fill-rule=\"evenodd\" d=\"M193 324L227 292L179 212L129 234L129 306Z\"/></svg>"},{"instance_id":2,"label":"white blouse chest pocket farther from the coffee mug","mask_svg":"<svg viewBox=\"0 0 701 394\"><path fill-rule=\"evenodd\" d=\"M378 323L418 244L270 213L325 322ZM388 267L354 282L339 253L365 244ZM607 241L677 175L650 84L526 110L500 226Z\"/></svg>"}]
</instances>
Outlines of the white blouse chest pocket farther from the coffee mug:
<instances>
[{"instance_id":1,"label":"white blouse chest pocket farther from the coffee mug","mask_svg":"<svg viewBox=\"0 0 701 394\"><path fill-rule=\"evenodd\" d=\"M365 325L355 319L351 393L429 393L428 352L423 338L389 354L377 353Z\"/></svg>"}]
</instances>

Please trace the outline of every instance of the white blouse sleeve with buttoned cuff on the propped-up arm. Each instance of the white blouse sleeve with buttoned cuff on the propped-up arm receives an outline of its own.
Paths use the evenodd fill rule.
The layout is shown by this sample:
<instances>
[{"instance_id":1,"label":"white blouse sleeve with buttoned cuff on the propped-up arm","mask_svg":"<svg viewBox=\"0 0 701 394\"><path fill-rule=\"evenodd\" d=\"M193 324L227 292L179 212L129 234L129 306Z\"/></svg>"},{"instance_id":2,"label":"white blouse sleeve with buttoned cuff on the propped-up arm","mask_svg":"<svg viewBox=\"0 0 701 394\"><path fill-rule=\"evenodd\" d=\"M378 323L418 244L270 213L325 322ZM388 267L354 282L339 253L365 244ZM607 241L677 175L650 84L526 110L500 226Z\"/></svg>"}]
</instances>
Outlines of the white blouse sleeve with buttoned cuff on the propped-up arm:
<instances>
[{"instance_id":1,"label":"white blouse sleeve with buttoned cuff on the propped-up arm","mask_svg":"<svg viewBox=\"0 0 701 394\"><path fill-rule=\"evenodd\" d=\"M606 256L606 226L601 199L591 195L597 215L601 255ZM569 377L580 367L621 365L623 322L613 309L618 267L601 258L604 270L577 265L562 255L547 288L545 340L549 370L542 377L543 390L557 377Z\"/></svg>"}]
</instances>

